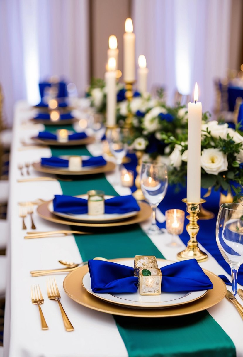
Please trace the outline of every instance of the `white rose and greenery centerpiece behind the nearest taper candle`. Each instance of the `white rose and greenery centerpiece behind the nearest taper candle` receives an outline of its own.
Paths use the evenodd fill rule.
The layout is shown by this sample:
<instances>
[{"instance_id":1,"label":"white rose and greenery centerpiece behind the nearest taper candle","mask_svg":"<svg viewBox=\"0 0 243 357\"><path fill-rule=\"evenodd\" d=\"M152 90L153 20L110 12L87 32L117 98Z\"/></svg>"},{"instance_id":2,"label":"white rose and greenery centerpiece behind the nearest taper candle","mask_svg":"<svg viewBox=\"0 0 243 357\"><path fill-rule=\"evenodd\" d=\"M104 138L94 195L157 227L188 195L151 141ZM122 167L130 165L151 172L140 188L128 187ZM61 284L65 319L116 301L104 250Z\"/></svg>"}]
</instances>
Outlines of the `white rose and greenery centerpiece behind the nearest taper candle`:
<instances>
[{"instance_id":1,"label":"white rose and greenery centerpiece behind the nearest taper candle","mask_svg":"<svg viewBox=\"0 0 243 357\"><path fill-rule=\"evenodd\" d=\"M207 115L204 116L204 119ZM243 132L233 130L218 121L202 122L201 186L214 187L224 195L243 192ZM172 169L170 184L185 185L187 175L187 132L172 136L161 133L169 144Z\"/></svg>"}]
</instances>

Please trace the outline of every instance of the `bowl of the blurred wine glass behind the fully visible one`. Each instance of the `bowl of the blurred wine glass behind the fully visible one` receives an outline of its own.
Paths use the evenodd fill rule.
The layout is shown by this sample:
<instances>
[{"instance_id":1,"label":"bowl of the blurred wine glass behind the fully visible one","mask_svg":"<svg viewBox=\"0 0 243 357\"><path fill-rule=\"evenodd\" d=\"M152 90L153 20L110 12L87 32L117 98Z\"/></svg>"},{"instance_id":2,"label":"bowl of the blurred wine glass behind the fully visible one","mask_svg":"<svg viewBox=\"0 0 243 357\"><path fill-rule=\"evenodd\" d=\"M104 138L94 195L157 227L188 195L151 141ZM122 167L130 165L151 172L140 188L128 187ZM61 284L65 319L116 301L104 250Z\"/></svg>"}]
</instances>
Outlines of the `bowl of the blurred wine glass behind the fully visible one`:
<instances>
[{"instance_id":1,"label":"bowl of the blurred wine glass behind the fully visible one","mask_svg":"<svg viewBox=\"0 0 243 357\"><path fill-rule=\"evenodd\" d=\"M118 169L122 164L123 157L128 152L129 130L122 128L114 128L108 131L107 141L112 155L115 156Z\"/></svg>"}]
</instances>

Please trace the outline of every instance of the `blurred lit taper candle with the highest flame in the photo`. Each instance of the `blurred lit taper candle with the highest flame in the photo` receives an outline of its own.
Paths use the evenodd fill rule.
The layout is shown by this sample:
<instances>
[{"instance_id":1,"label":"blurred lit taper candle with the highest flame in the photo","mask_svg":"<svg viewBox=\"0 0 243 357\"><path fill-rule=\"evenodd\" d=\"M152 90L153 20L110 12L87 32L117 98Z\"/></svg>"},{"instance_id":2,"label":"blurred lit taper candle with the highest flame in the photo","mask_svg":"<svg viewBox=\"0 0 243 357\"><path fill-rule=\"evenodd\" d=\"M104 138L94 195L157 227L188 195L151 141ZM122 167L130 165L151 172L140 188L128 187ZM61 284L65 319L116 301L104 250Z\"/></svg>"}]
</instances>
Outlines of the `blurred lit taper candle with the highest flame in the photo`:
<instances>
[{"instance_id":1,"label":"blurred lit taper candle with the highest flame in the photo","mask_svg":"<svg viewBox=\"0 0 243 357\"><path fill-rule=\"evenodd\" d=\"M135 34L133 33L133 21L126 19L125 34L123 35L123 79L124 82L135 81Z\"/></svg>"}]
</instances>

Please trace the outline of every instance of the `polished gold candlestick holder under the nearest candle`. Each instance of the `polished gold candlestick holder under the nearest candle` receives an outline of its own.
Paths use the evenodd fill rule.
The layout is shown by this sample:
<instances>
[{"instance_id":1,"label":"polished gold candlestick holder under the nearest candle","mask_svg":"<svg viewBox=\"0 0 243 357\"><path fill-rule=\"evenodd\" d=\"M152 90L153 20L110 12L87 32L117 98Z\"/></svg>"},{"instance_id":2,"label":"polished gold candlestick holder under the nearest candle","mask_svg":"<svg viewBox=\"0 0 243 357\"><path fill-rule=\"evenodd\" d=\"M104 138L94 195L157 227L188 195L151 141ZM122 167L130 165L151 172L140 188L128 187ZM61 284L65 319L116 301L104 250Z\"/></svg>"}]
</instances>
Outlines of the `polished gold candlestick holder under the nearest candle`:
<instances>
[{"instance_id":1,"label":"polished gold candlestick holder under the nearest candle","mask_svg":"<svg viewBox=\"0 0 243 357\"><path fill-rule=\"evenodd\" d=\"M197 214L200 212L201 204L205 203L206 200L201 198L200 202L187 202L187 199L184 198L182 202L186 203L186 211L189 213L189 216L186 217L189 220L186 230L190 236L190 241L188 241L186 249L177 254L177 258L179 260L194 258L198 262L204 262L207 260L208 255L198 247L197 233L200 227L197 224Z\"/></svg>"}]
</instances>

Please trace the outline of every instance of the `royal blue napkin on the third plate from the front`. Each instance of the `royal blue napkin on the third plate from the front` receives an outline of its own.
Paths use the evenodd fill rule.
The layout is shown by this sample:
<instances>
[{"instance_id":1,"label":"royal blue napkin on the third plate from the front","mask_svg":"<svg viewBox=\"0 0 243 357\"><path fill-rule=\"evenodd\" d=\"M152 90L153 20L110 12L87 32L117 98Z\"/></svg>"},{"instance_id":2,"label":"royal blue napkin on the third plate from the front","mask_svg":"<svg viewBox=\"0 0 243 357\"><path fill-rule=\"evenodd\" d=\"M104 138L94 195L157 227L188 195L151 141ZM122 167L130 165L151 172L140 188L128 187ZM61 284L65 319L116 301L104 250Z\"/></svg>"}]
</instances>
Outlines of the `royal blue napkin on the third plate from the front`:
<instances>
[{"instance_id":1,"label":"royal blue napkin on the third plate from the front","mask_svg":"<svg viewBox=\"0 0 243 357\"><path fill-rule=\"evenodd\" d=\"M68 167L68 160L61 159L60 157L42 157L41 165L52 167ZM102 156L90 157L87 160L82 160L82 167L87 166L104 166L106 161ZM81 167L80 167L81 168Z\"/></svg>"}]
</instances>

